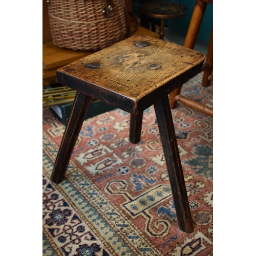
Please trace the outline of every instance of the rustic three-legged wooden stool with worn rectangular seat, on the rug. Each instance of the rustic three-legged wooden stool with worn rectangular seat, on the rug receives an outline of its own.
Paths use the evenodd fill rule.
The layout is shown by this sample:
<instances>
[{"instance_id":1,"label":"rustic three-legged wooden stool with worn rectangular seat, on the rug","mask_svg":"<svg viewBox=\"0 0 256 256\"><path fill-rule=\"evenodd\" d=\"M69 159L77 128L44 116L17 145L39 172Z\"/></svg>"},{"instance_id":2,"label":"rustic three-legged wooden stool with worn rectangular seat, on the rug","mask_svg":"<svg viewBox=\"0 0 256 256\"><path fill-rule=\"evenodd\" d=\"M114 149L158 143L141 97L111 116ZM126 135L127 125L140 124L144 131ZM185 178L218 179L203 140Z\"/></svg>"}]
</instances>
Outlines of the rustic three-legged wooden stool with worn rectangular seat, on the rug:
<instances>
[{"instance_id":1,"label":"rustic three-legged wooden stool with worn rectangular seat, on the rug","mask_svg":"<svg viewBox=\"0 0 256 256\"><path fill-rule=\"evenodd\" d=\"M168 94L198 74L205 55L136 35L57 71L59 83L77 91L51 180L67 170L92 97L131 114L130 140L139 142L143 111L154 104L179 227L193 231Z\"/></svg>"}]
</instances>

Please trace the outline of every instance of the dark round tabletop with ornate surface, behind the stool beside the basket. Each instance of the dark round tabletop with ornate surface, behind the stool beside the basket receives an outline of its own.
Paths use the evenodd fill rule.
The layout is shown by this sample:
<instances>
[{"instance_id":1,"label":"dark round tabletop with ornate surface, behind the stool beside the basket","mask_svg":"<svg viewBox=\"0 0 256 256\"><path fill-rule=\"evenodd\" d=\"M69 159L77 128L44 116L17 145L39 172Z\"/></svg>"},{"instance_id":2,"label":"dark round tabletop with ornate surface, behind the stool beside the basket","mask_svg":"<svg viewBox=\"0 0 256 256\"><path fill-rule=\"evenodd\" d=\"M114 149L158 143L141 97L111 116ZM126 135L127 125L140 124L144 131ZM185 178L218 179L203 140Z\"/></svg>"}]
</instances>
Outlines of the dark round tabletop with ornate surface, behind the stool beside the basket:
<instances>
[{"instance_id":1,"label":"dark round tabletop with ornate surface, behind the stool beside the basket","mask_svg":"<svg viewBox=\"0 0 256 256\"><path fill-rule=\"evenodd\" d=\"M139 12L152 18L180 18L187 14L184 5L166 1L150 1L140 4Z\"/></svg>"}]
</instances>

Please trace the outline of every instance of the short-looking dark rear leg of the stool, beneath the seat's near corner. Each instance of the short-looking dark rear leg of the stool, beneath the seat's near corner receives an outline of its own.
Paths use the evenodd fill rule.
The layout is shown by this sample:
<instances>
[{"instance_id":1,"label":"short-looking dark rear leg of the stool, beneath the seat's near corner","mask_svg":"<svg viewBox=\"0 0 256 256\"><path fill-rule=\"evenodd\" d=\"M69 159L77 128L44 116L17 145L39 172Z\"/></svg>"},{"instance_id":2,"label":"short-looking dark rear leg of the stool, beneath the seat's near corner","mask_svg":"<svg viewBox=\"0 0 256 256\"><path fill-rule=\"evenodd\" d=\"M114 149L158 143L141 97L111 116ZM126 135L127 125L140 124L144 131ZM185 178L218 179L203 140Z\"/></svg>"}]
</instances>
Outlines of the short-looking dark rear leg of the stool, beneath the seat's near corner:
<instances>
[{"instance_id":1,"label":"short-looking dark rear leg of the stool, beneath the seat's near corner","mask_svg":"<svg viewBox=\"0 0 256 256\"><path fill-rule=\"evenodd\" d=\"M140 142L143 112L130 117L130 141L134 144Z\"/></svg>"}]
</instances>

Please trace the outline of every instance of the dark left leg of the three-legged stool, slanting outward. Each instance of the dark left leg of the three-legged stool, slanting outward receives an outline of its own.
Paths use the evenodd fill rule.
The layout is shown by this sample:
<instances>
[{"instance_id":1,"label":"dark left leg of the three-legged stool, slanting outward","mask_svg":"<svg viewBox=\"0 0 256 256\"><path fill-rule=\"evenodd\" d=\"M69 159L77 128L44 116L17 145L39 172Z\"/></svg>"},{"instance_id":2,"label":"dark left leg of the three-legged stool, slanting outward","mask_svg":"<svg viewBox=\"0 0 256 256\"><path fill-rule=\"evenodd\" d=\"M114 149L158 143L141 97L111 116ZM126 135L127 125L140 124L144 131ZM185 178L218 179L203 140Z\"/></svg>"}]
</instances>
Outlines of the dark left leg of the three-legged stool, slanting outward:
<instances>
[{"instance_id":1,"label":"dark left leg of the three-legged stool, slanting outward","mask_svg":"<svg viewBox=\"0 0 256 256\"><path fill-rule=\"evenodd\" d=\"M80 133L82 123L86 117L92 97L77 92L70 113L66 130L61 140L59 152L53 167L51 180L60 183L65 176L71 155L73 153L77 137Z\"/></svg>"}]
</instances>

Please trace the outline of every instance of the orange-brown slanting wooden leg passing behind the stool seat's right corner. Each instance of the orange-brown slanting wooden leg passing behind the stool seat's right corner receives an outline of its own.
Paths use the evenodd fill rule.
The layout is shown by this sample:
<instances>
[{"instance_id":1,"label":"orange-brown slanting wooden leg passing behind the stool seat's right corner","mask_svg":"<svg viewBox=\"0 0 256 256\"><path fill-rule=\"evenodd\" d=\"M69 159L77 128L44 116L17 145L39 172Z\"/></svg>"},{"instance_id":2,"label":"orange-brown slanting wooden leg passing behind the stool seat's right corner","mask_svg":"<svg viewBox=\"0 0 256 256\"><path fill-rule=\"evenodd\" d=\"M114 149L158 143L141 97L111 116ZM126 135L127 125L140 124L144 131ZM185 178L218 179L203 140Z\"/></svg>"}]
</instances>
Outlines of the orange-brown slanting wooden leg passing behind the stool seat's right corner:
<instances>
[{"instance_id":1,"label":"orange-brown slanting wooden leg passing behind the stool seat's right corner","mask_svg":"<svg viewBox=\"0 0 256 256\"><path fill-rule=\"evenodd\" d=\"M186 38L183 45L184 47L189 49L194 49L197 36L199 33L199 29L204 17L206 6L207 6L206 2L197 0L190 23L189 23L189 27L187 30ZM169 94L169 104L171 109L174 109L176 107L177 100L175 99L175 97L180 94L180 91L181 91L181 86Z\"/></svg>"}]
</instances>

